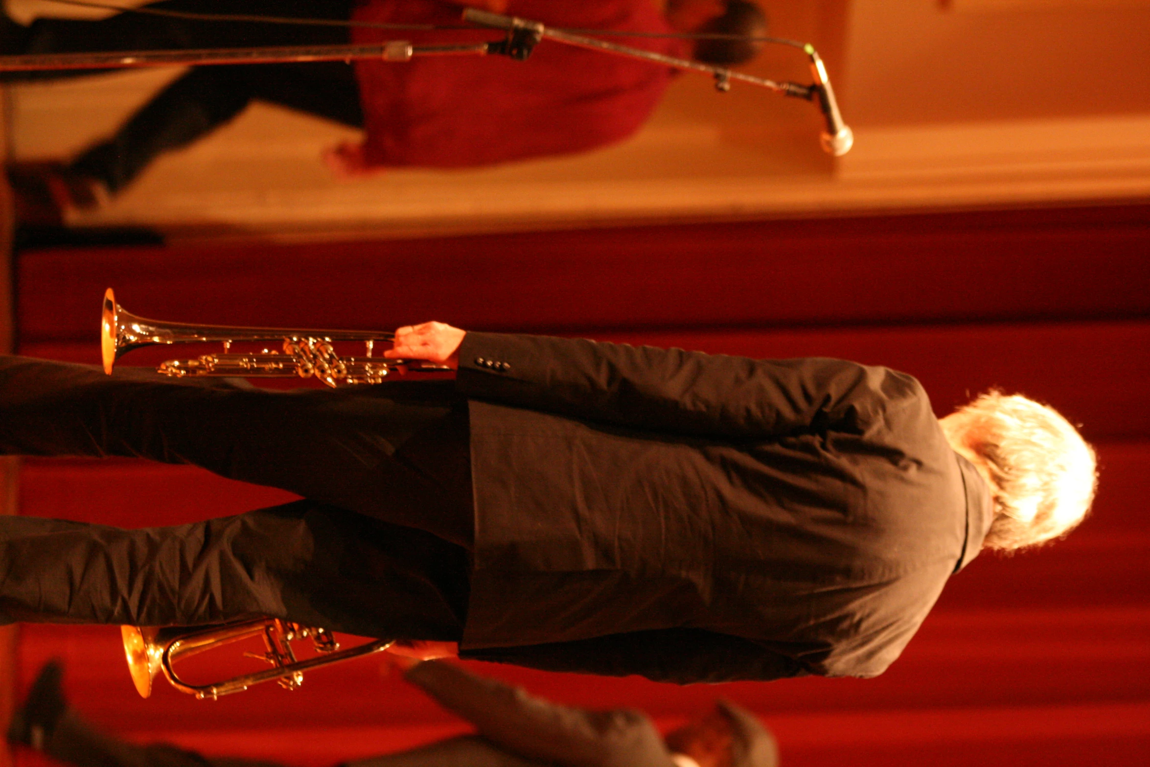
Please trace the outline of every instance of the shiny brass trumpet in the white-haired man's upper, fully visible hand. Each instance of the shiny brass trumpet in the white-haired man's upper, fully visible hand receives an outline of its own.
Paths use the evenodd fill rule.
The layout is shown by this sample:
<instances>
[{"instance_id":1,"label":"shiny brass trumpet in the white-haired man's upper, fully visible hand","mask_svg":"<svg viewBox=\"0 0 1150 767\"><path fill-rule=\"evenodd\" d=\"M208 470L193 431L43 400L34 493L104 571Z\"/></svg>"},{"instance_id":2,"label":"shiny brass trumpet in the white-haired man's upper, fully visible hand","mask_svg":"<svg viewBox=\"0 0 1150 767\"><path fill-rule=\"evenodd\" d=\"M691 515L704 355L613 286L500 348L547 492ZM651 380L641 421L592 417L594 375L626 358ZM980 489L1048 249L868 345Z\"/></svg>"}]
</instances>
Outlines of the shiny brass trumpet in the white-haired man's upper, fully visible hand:
<instances>
[{"instance_id":1,"label":"shiny brass trumpet in the white-haired man's upper, fully visible hand","mask_svg":"<svg viewBox=\"0 0 1150 767\"><path fill-rule=\"evenodd\" d=\"M100 345L103 371L112 374L116 360L141 346L220 342L223 352L194 360L168 360L156 370L168 376L284 377L315 376L329 386L377 384L393 370L442 371L447 366L422 360L388 360L371 356L376 342L391 343L394 333L382 330L307 330L301 328L235 328L160 322L125 312L109 287L103 293ZM235 342L278 342L283 351L233 353ZM363 356L339 356L334 342L361 342Z\"/></svg>"}]
</instances>

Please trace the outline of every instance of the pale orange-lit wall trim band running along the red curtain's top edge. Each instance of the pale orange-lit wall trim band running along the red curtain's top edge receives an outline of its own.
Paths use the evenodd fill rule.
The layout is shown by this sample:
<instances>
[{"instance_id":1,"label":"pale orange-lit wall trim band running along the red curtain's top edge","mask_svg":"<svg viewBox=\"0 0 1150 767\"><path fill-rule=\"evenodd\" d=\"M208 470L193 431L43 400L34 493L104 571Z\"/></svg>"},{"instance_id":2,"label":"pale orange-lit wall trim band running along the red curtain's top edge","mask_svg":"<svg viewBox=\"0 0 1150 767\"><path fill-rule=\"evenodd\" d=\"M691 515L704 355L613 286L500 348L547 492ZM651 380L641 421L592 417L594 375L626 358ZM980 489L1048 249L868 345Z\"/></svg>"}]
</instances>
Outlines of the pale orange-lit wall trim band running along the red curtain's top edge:
<instances>
[{"instance_id":1,"label":"pale orange-lit wall trim band running along the red curtain's top edge","mask_svg":"<svg viewBox=\"0 0 1150 767\"><path fill-rule=\"evenodd\" d=\"M654 140L658 138L659 140ZM662 156L689 156L718 137L667 131L647 137ZM294 145L255 167L300 168ZM290 144L290 143L289 143ZM866 212L1150 199L1150 114L856 129L854 148L825 170L728 175L722 170L649 177L562 172L569 160L494 169L396 170L351 184L241 183L231 152L194 147L172 184L168 161L113 206L76 215L82 225L150 225L181 232L284 238L355 230L379 236L606 225L703 217L837 215ZM281 149L283 156L281 156ZM627 152L629 149L621 148ZM607 151L607 158L612 151ZM317 153L315 148L310 153ZM309 153L309 154L310 154ZM605 158L606 159L606 158ZM175 159L172 159L175 160ZM293 161L294 160L294 161ZM549 163L557 163L552 171ZM317 166L317 163L316 163ZM576 166L572 166L574 168ZM670 166L674 169L674 166ZM175 169L175 163L172 166ZM198 183L189 169L204 174ZM230 172L223 183L218 174ZM298 182L302 182L301 176Z\"/></svg>"}]
</instances>

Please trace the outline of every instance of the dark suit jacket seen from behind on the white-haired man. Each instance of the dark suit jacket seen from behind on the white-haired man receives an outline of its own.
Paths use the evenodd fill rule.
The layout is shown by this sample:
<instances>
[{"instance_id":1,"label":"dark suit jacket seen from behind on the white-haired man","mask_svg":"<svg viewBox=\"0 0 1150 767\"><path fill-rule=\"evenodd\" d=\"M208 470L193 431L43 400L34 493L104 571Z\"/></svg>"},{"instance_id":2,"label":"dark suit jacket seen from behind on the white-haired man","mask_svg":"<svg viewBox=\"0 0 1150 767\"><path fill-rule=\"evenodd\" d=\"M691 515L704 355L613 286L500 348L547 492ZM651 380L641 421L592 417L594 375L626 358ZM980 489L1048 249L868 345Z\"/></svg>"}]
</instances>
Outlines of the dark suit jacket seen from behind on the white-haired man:
<instances>
[{"instance_id":1,"label":"dark suit jacket seen from behind on the white-haired man","mask_svg":"<svg viewBox=\"0 0 1150 767\"><path fill-rule=\"evenodd\" d=\"M908 375L468 333L467 657L676 682L874 676L989 490Z\"/></svg>"}]
</instances>

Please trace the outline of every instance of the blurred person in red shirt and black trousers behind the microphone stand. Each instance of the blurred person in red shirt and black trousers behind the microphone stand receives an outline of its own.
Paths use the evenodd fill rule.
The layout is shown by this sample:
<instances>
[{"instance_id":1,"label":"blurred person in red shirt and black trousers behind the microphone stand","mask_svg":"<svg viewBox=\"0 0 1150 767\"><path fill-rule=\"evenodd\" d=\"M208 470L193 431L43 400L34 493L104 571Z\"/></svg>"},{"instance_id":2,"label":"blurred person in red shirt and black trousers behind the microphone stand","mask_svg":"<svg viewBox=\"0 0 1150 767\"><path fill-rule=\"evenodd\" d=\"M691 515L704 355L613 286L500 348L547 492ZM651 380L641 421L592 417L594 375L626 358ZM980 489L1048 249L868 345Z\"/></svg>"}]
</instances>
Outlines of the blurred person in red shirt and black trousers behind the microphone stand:
<instances>
[{"instance_id":1,"label":"blurred person in red shirt and black trousers behind the microphone stand","mask_svg":"<svg viewBox=\"0 0 1150 767\"><path fill-rule=\"evenodd\" d=\"M766 20L745 0L164 0L150 7L399 24L459 26L471 6L552 26L638 32L716 31L762 34ZM5 20L7 21L7 20ZM5 53L339 45L405 39L463 43L498 39L491 30L392 31L259 22L209 22L123 13L110 18L39 18L0 29ZM682 39L626 39L658 53L737 63L759 45ZM8 79L76 72L8 75ZM344 175L386 167L458 168L569 154L620 141L646 121L674 72L667 67L553 41L529 61L505 56L416 56L408 62L233 64L190 69L114 136L67 166L15 168L20 189L39 184L64 207L91 207L126 186L158 155L229 122L254 99L366 130L362 144L331 151Z\"/></svg>"}]
</instances>

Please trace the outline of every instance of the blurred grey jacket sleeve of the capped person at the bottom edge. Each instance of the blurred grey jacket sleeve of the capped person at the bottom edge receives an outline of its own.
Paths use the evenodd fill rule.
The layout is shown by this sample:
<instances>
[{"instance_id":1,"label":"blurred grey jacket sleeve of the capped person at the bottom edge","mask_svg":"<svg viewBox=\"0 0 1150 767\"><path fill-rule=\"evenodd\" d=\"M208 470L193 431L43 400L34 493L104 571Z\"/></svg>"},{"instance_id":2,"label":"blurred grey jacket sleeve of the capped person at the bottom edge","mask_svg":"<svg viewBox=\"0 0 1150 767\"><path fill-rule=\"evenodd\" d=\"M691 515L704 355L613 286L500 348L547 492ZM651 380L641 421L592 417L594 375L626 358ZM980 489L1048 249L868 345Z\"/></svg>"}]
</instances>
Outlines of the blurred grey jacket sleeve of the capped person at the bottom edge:
<instances>
[{"instance_id":1,"label":"blurred grey jacket sleeve of the capped person at the bottom edge","mask_svg":"<svg viewBox=\"0 0 1150 767\"><path fill-rule=\"evenodd\" d=\"M516 756L569 767L670 767L639 712L560 706L442 661L413 666L405 677Z\"/></svg>"}]
</instances>

